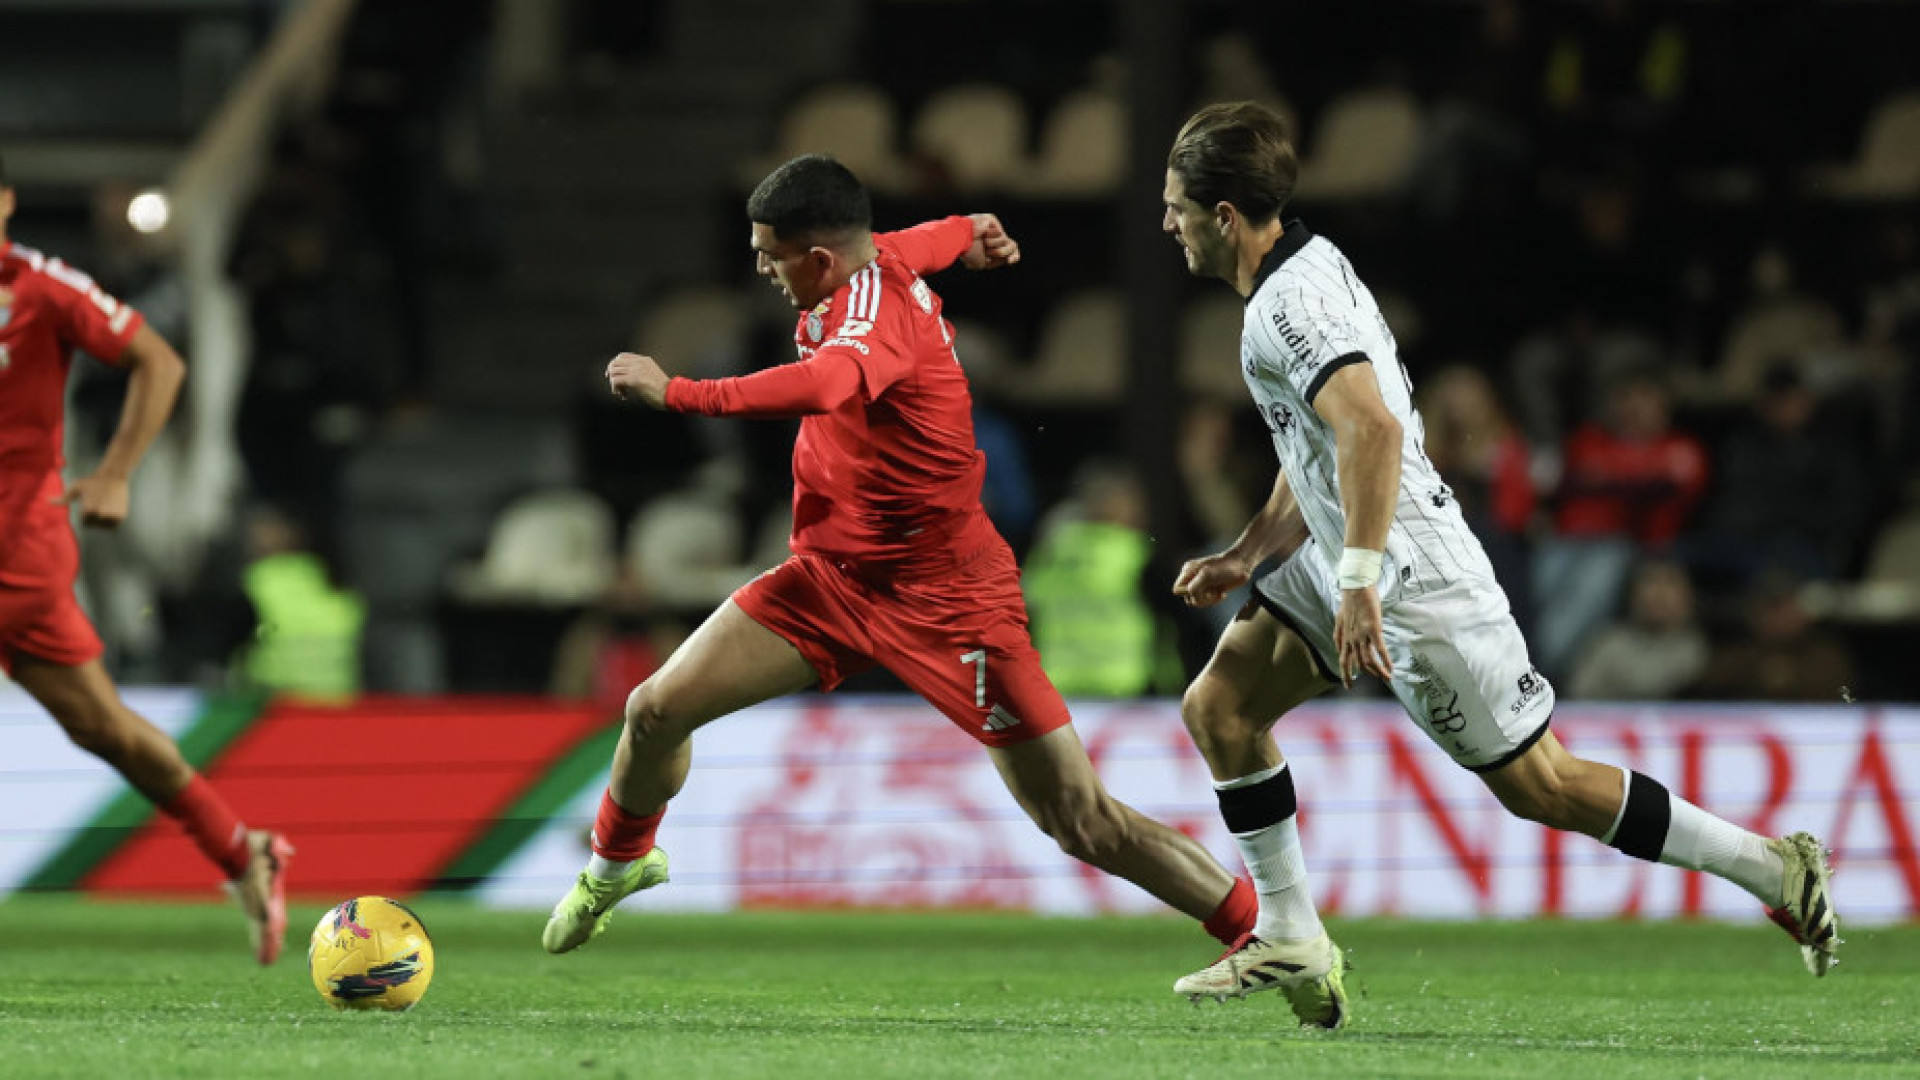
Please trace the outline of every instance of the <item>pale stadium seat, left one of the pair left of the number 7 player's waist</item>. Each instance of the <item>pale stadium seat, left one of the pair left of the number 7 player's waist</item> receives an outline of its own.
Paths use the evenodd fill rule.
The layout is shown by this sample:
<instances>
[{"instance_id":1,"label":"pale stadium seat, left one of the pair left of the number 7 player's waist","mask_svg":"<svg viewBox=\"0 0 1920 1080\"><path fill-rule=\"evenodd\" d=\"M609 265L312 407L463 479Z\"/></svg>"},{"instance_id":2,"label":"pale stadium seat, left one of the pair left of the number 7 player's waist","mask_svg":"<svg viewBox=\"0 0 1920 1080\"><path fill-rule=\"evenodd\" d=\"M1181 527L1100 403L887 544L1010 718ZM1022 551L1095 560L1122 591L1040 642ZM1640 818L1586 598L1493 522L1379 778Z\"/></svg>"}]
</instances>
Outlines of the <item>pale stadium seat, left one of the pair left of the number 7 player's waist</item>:
<instances>
[{"instance_id":1,"label":"pale stadium seat, left one of the pair left of the number 7 player's waist","mask_svg":"<svg viewBox=\"0 0 1920 1080\"><path fill-rule=\"evenodd\" d=\"M493 523L486 555L453 575L474 601L578 603L612 580L612 513L578 490L534 492Z\"/></svg>"}]
</instances>

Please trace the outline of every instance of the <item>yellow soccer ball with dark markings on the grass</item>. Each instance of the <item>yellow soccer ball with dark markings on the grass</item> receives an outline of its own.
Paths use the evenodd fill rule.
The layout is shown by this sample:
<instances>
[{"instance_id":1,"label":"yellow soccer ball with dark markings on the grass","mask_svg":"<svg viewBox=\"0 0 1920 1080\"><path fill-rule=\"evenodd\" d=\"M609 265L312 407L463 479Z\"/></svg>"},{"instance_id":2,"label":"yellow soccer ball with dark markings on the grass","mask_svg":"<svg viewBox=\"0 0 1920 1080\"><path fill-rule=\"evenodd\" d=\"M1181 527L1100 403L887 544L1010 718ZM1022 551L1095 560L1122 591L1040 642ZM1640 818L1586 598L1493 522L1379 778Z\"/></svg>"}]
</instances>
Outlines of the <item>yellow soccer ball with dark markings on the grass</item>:
<instances>
[{"instance_id":1,"label":"yellow soccer ball with dark markings on the grass","mask_svg":"<svg viewBox=\"0 0 1920 1080\"><path fill-rule=\"evenodd\" d=\"M434 944L407 905L363 896L321 917L307 970L334 1009L413 1009L434 980Z\"/></svg>"}]
</instances>

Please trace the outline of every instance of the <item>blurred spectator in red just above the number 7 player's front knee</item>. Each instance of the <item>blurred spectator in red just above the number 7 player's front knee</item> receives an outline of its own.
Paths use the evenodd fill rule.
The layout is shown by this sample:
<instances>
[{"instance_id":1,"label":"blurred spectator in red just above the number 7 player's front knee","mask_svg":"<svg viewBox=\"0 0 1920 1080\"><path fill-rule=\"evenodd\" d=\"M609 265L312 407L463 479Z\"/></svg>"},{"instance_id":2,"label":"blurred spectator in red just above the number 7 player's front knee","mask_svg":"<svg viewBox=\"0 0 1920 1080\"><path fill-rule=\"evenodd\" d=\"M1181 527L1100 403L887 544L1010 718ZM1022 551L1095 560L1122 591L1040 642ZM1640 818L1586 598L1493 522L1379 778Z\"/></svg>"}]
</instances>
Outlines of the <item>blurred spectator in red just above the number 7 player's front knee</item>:
<instances>
[{"instance_id":1,"label":"blurred spectator in red just above the number 7 player's front knee","mask_svg":"<svg viewBox=\"0 0 1920 1080\"><path fill-rule=\"evenodd\" d=\"M553 650L547 692L618 715L628 694L659 671L685 636L685 626L655 611L639 575L626 567L605 596L566 626Z\"/></svg>"}]
</instances>

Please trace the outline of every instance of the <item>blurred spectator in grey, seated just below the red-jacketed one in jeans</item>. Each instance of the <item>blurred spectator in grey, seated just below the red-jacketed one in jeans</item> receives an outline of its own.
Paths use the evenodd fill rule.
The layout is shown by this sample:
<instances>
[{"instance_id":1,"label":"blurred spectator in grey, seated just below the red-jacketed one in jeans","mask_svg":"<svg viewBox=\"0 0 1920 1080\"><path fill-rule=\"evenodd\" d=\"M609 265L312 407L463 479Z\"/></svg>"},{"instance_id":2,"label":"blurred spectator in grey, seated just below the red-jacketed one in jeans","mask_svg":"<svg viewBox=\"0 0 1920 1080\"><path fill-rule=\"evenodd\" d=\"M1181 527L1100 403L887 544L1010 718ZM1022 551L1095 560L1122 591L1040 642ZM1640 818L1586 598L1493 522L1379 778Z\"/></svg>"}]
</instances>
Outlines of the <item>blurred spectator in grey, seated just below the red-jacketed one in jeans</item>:
<instances>
[{"instance_id":1,"label":"blurred spectator in grey, seated just below the red-jacketed one in jeans","mask_svg":"<svg viewBox=\"0 0 1920 1080\"><path fill-rule=\"evenodd\" d=\"M1601 701L1657 701L1690 688L1707 667L1707 634L1693 617L1693 584L1680 563L1634 571L1626 619L1580 650L1569 694Z\"/></svg>"}]
</instances>

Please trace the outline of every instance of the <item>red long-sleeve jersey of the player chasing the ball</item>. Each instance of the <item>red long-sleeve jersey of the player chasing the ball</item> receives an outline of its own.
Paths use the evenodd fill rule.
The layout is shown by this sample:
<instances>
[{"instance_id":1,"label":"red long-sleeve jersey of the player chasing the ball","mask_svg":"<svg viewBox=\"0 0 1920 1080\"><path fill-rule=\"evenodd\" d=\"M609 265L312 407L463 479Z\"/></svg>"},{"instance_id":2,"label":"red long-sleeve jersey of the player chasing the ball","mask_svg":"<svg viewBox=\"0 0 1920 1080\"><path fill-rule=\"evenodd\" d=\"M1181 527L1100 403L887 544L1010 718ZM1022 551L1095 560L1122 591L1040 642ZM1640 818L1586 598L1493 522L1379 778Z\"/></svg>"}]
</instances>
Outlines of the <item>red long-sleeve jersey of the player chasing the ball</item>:
<instances>
[{"instance_id":1,"label":"red long-sleeve jersey of the player chasing the ball","mask_svg":"<svg viewBox=\"0 0 1920 1080\"><path fill-rule=\"evenodd\" d=\"M874 236L876 258L799 319L799 361L739 379L674 379L666 407L801 417L793 550L866 573L929 577L998 534L979 505L987 459L952 325L922 273L973 242L966 217Z\"/></svg>"}]
</instances>

